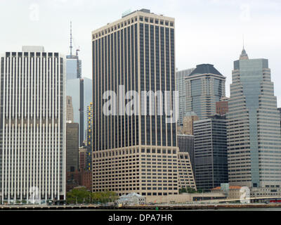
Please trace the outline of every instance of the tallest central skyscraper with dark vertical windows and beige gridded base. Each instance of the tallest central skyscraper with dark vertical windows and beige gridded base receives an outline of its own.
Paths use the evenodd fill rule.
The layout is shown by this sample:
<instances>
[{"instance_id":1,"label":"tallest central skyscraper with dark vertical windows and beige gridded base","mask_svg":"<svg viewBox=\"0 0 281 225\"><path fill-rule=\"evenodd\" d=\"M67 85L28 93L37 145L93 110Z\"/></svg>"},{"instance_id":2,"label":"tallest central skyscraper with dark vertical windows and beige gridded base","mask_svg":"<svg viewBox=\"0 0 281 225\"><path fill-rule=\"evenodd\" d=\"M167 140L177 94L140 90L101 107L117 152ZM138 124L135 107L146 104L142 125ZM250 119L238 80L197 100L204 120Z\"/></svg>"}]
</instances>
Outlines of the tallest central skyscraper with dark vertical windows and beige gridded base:
<instances>
[{"instance_id":1,"label":"tallest central skyscraper with dark vertical windows and beige gridded base","mask_svg":"<svg viewBox=\"0 0 281 225\"><path fill-rule=\"evenodd\" d=\"M164 113L143 115L150 101L138 102L133 115L122 114L127 91L137 91L139 99L141 91L159 91L164 102L164 91L175 90L174 18L135 11L93 31L92 43L93 191L178 194L176 123L167 123ZM117 95L116 115L103 110L105 91Z\"/></svg>"}]
</instances>

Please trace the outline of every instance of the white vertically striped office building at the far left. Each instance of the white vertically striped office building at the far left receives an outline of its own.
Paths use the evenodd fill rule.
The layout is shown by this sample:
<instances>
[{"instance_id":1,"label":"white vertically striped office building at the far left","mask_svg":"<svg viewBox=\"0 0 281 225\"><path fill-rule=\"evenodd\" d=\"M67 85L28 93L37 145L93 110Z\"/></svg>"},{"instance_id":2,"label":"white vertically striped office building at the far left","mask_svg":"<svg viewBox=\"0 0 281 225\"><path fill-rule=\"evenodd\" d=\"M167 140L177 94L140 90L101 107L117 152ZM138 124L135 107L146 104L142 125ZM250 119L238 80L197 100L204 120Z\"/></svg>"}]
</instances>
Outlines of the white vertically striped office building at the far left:
<instances>
[{"instance_id":1,"label":"white vertically striped office building at the far left","mask_svg":"<svg viewBox=\"0 0 281 225\"><path fill-rule=\"evenodd\" d=\"M65 200L65 59L43 47L1 55L1 203Z\"/></svg>"}]
</instances>

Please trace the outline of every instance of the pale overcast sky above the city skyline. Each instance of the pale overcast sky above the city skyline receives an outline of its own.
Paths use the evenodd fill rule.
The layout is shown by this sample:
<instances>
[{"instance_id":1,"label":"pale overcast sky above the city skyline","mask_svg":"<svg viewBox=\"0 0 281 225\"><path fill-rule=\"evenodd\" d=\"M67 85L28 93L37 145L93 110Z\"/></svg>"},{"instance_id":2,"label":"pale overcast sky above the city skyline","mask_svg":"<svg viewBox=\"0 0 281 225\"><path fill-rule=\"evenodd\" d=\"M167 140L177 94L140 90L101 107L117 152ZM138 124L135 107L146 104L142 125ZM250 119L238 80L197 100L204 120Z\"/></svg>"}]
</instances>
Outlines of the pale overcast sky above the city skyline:
<instances>
[{"instance_id":1,"label":"pale overcast sky above the city skyline","mask_svg":"<svg viewBox=\"0 0 281 225\"><path fill-rule=\"evenodd\" d=\"M249 58L268 58L281 107L280 0L0 0L0 52L42 45L67 54L72 20L74 49L91 78L91 31L141 8L176 18L176 68L214 64L227 77L227 96L244 34Z\"/></svg>"}]
</instances>

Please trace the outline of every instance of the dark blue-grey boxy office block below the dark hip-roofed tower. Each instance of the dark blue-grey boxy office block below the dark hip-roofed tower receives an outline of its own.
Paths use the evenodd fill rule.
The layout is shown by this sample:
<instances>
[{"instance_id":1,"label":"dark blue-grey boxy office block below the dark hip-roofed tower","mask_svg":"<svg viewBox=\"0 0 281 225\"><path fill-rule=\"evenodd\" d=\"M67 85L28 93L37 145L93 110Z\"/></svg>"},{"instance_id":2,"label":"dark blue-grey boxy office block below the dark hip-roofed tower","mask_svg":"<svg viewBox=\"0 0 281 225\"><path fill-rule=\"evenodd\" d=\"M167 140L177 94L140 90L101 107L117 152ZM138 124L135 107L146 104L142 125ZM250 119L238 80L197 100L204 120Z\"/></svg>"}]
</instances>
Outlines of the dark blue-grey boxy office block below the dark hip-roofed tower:
<instances>
[{"instance_id":1,"label":"dark blue-grey boxy office block below the dark hip-roofed tower","mask_svg":"<svg viewBox=\"0 0 281 225\"><path fill-rule=\"evenodd\" d=\"M228 183L226 117L214 115L194 122L195 182L209 191Z\"/></svg>"}]
</instances>

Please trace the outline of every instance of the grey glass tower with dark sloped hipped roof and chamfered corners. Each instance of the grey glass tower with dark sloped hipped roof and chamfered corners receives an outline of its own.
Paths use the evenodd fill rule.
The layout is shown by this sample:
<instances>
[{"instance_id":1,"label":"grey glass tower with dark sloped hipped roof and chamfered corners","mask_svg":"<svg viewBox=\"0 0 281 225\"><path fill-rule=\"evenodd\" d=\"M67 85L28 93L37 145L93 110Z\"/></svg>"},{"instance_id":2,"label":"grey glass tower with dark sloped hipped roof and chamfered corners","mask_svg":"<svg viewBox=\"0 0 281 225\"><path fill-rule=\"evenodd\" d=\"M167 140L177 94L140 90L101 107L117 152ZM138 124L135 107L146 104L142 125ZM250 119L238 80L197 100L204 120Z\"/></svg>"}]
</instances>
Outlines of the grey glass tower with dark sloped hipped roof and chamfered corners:
<instances>
[{"instance_id":1,"label":"grey glass tower with dark sloped hipped roof and chamfered corners","mask_svg":"<svg viewBox=\"0 0 281 225\"><path fill-rule=\"evenodd\" d=\"M200 120L216 113L216 102L226 96L226 77L214 65L197 65L185 77L186 112L195 112Z\"/></svg>"}]
</instances>

